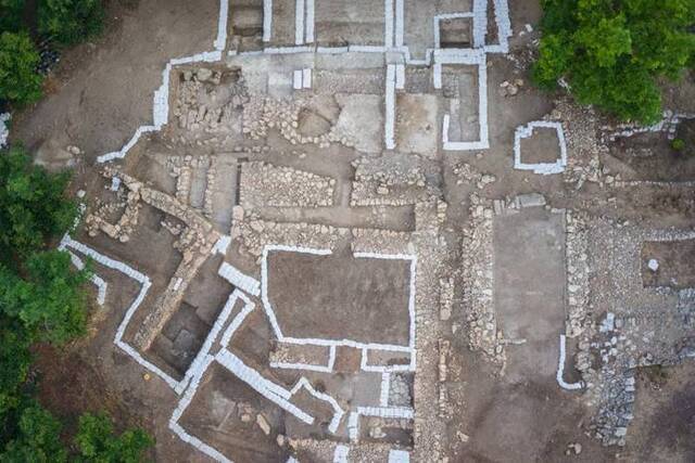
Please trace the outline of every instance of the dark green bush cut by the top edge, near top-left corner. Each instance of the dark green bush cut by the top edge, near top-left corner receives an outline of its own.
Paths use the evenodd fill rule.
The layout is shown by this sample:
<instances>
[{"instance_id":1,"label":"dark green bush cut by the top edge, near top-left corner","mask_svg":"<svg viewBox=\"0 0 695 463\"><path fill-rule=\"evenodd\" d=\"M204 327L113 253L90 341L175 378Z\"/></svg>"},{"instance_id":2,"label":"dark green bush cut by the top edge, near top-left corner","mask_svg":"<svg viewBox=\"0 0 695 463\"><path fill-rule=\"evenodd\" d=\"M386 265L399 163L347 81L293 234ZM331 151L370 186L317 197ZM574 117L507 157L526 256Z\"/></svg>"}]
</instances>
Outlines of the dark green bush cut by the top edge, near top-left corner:
<instances>
[{"instance_id":1,"label":"dark green bush cut by the top edge, near top-left corner","mask_svg":"<svg viewBox=\"0 0 695 463\"><path fill-rule=\"evenodd\" d=\"M101 33L101 0L39 0L39 33L62 44L74 44Z\"/></svg>"}]
</instances>

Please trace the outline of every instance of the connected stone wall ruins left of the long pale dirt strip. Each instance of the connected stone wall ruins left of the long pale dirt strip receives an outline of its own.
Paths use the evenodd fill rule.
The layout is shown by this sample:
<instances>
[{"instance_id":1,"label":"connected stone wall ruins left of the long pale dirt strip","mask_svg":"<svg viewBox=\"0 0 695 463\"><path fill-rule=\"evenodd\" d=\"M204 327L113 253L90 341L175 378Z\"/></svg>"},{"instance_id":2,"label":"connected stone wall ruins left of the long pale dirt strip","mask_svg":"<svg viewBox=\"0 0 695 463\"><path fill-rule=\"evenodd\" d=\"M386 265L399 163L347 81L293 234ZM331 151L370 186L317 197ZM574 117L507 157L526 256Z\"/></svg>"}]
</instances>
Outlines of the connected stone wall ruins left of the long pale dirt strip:
<instances>
[{"instance_id":1,"label":"connected stone wall ruins left of the long pale dirt strip","mask_svg":"<svg viewBox=\"0 0 695 463\"><path fill-rule=\"evenodd\" d=\"M386 117L383 129L383 140L387 149L395 147L395 91L404 88L405 65L433 65L433 79L437 88L441 88L443 65L475 65L478 67L479 73L479 140L472 143L450 141L448 129L446 128L450 116L446 115L444 118L445 130L443 131L442 143L445 150L477 150L488 147L485 53L505 53L507 51L507 38L510 36L510 25L506 1L494 1L495 21L498 29L498 44L489 46L484 43L484 30L486 29L488 23L488 2L477 0L472 12L460 14L460 17L471 17L473 22L475 48L469 50L442 50L439 48L438 43L435 43L433 49L427 50L426 60L424 62L412 60L408 48L404 46L404 2L402 0L395 0L395 2L393 0L386 0L384 7L387 27L383 47L350 46L345 49L327 49L320 47L313 49L307 48L305 43L312 43L314 40L314 1L299 0L296 3L298 47L265 48L262 53L290 54L315 51L317 53L329 54L344 52L393 52L400 54L400 60L387 66L387 87L384 91ZM213 63L222 60L227 38L227 0L222 0L219 29L217 40L215 40L214 51L182 59L175 59L166 65L163 72L162 86L157 89L154 95L153 125L138 128L135 136L123 146L122 150L101 156L99 162L106 163L113 159L123 158L138 142L142 134L162 129L162 127L167 123L169 116L169 83L172 79L172 69L174 66L178 65L189 65L200 62ZM435 34L438 36L439 23L442 18L445 17L438 16L433 18ZM273 7L271 2L266 0L264 1L263 31L263 39L266 42L269 41L271 37L271 24ZM235 55L237 53L230 51L228 54ZM238 107L243 106L245 117L243 118L244 127L242 127L242 131L251 139L265 137L267 129L274 127L276 120L280 120L281 123L278 123L280 133L292 144L313 142L319 146L326 147L331 142L340 142L345 146L351 146L356 142L353 138L345 137L334 129L332 129L328 134L323 134L313 139L302 136L298 131L299 111L302 107L300 102L292 104L274 101L271 99L257 100L256 97L249 97L244 92L243 86L240 86L239 90L236 91L228 107L219 108L217 112L207 111L200 104L195 95L200 93L200 90L203 87L208 83L215 85L223 78L223 75L214 70L208 72L205 69L198 69L185 73L184 81L179 86L178 90L179 104L174 111L174 116L178 118L179 128L193 133L198 132L203 127L212 127L214 130L215 125L224 125L225 117L228 117L228 115ZM296 90L311 88L312 69L304 67L295 70L293 73L292 80L292 86ZM249 124L248 121L253 121L253 125L247 125ZM212 164L212 159L201 159L195 162L207 163L202 167L207 169L207 183L213 183L215 181L215 167ZM191 191L191 170L192 168L198 167L192 166L191 163L193 163L193 159L187 157L172 166L173 173L176 177L176 200L164 194L159 194L159 192L146 187L116 169L106 168L104 175L112 179L113 191L121 195L122 202L116 204L116 206L103 206L101 209L98 208L86 219L90 234L93 235L97 231L101 231L124 243L128 242L134 228L137 226L141 202L150 204L155 208L169 214L185 224L181 229L177 224L163 222L163 227L179 236L176 246L184 255L184 259L179 265L179 268L176 270L176 273L170 279L166 290L157 297L154 304L155 310L146 317L142 325L137 330L137 334L134 339L135 346L130 346L125 343L123 340L123 336L131 318L143 301L148 290L152 284L150 279L128 266L110 259L80 243L72 241L68 236L64 240L64 246L66 248L77 250L86 256L94 258L99 263L122 271L141 284L141 292L128 309L126 317L116 333L115 342L118 347L124 349L136 361L152 373L162 377L176 390L177 394L182 395L181 400L174 411L169 422L172 430L184 441L195 447L208 456L217 461L229 461L228 456L224 455L211 445L191 435L179 424L179 420L191 403L198 390L198 386L201 384L203 375L208 371L211 364L215 362L232 372L238 378L248 384L252 389L256 390L267 400L274 402L279 408L294 415L298 420L304 423L313 423L314 417L292 403L292 397L298 394L300 389L304 389L317 399L330 404L334 413L328 429L332 433L336 433L341 422L346 420L350 439L352 441L357 441L361 416L380 417L384 420L405 420L414 422L415 448L417 451L429 455L439 453L440 449L438 448L438 441L424 440L426 436L429 435L425 429L429 427L431 423L435 422L437 410L446 408L446 398L445 395L443 395L443 390L431 389L429 382L424 381L424 378L428 376L427 370L430 365L439 365L437 368L440 372L440 376L443 375L442 378L446 375L445 360L442 361L442 358L440 357L439 361L431 361L431 359L428 358L430 352L439 351L438 346L441 345L441 343L438 343L432 338L433 332L431 327L433 325L432 322L440 316L435 314L433 319L430 319L432 314L426 311L419 312L417 309L418 306L427 307L428 304L426 303L426 298L429 297L429 288L435 288L439 286L438 279L435 276L435 262L438 261L438 258L441 258L441 256L438 256L437 252L433 252L437 245L435 243L431 243L431 234L426 230L422 230L422 233L419 235L416 234L414 236L414 241L416 243L415 247L418 248L418 252L412 253L409 252L410 247L407 245L409 240L406 233L383 231L380 232L380 234L378 232L375 234L372 230L354 229L352 231L348 231L324 226L308 226L307 228L299 229L289 228L285 231L279 230L276 226L273 228L273 231L270 231L269 227L263 224L263 222L258 220L254 220L253 216L249 215L244 217L243 209L240 208L239 210L241 213L235 213L238 220L232 224L231 236L219 235L208 228L206 220L200 215L203 213L206 217L211 216L211 206L206 196L200 211L187 204L187 198L189 198ZM429 189L429 185L427 184L425 172L419 167L415 166L409 172L386 173L387 169L382 169L378 165L369 165L365 163L366 162L362 164L356 163L355 165L357 173L353 184L354 191L351 194L351 205L381 204L396 206L415 204L415 216L417 222L439 223L438 216L441 214L441 210L445 209L446 205L444 203L432 203L431 197L437 196L439 192L427 190ZM241 204L244 209L258 206L319 207L331 206L333 204L333 193L336 189L336 181L333 179L321 178L309 172L301 172L290 168L275 167L264 163L253 162L244 163L241 171L242 181L239 192L240 197L238 200L239 204ZM301 181L298 181L298 179ZM282 185L285 187L278 188ZM281 191L282 194L275 194L275 191ZM414 191L419 192L414 194ZM432 206L434 206L434 208L432 208ZM112 211L109 210L109 207L124 209L123 215L115 224L109 223L103 219L104 216L110 215L109 213ZM430 218L433 219L433 221ZM418 227L416 227L416 229ZM274 239L273 236L278 235L279 231L281 231L280 237ZM354 257L357 259L399 259L410 262L410 282L408 288L409 340L407 345L365 344L350 339L338 342L321 338L291 338L283 336L281 333L275 318L273 307L270 306L267 297L267 253L271 249L285 249L294 253L327 255L331 253L330 248L336 244L336 236L344 235L348 232L352 233L355 240L352 247ZM324 241L321 243L316 242L315 239L309 240L309 233L314 236L326 236L328 241ZM224 254L229 245L230 239L235 237L241 237L243 243L242 246L261 258L261 279L258 281L254 275L247 274L233 266L223 262L218 270L219 275L228 280L238 290L235 290L235 292L229 296L227 304L205 338L202 348L186 371L184 378L176 381L160 368L146 360L140 352L147 350L152 345L155 334L161 331L164 323L172 316L172 312L176 307L178 307L192 275L195 274L202 262L205 260L205 257L211 253ZM268 245L268 243L273 242L288 244ZM308 243L312 243L313 247L307 247ZM376 252L376 249L379 250ZM416 254L420 254L420 252L428 255L428 258L420 259L418 261ZM421 269L418 269L418 267L421 267ZM433 278L428 276L422 279L422 281L419 281L416 285L416 275L432 275ZM446 283L443 284L445 285ZM453 291L453 283L451 283L450 286L450 290ZM100 286L100 288L102 286ZM336 349L338 347L349 346L357 348L362 351L362 370L381 374L380 406L356 407L348 412L348 410L344 410L333 397L316 390L305 377L301 377L292 388L287 389L265 378L261 373L245 364L243 360L228 348L235 332L255 309L254 303L252 303L244 293L253 297L257 297L258 294L261 295L263 307L266 311L267 318L270 320L275 335L280 342L280 345L286 346L286 353L282 353L282 350L277 352L270 366L276 369L291 369L295 371L305 370L307 372L330 372L333 368ZM443 304L443 308L440 311L441 317L446 317L445 313L447 310L451 312L452 299L453 296L451 294L448 297L443 295L439 299ZM238 300L243 301L243 308L236 314L236 317L231 318L232 309ZM230 318L231 321L229 321ZM421 329L416 330L418 321L421 321L424 325ZM225 326L227 327L225 329ZM416 348L418 344L422 345L424 349L418 350ZM220 347L215 353L213 353L215 350L214 346L217 345ZM314 364L298 361L283 361L286 357L292 357L288 353L291 351L291 347L288 346L292 345L309 349L316 346L328 347L328 362L326 364ZM368 360L369 352L371 350L402 351L407 353L409 363L390 366L371 364ZM496 349L493 346L491 348L491 353L494 352L496 352ZM407 390L407 384L403 383L403 378L400 376L400 373L414 372L418 364L421 365L420 369L422 370L424 375L416 374L415 376L415 410L421 410L416 414L415 410L409 406L410 399L408 397L410 393ZM438 401L441 403L437 410L433 410L428 406L428 403ZM434 413L434 415L430 416L430 413ZM351 450L349 447L339 445L334 447L333 460L349 461L350 453ZM389 462L407 462L409 461L409 453L405 450L392 449L388 452Z\"/></svg>"}]
</instances>

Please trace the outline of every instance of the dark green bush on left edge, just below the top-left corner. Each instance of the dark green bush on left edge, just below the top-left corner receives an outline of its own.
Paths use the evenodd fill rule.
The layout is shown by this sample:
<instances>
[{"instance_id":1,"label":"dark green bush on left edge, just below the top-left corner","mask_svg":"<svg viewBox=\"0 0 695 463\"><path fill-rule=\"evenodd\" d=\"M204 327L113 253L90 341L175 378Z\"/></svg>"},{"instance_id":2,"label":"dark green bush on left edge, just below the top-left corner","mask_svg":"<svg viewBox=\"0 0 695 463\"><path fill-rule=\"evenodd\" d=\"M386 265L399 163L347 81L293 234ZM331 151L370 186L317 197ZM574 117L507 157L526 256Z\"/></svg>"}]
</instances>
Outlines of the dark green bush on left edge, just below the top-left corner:
<instances>
[{"instance_id":1,"label":"dark green bush on left edge, just below the top-left corner","mask_svg":"<svg viewBox=\"0 0 695 463\"><path fill-rule=\"evenodd\" d=\"M0 100L25 105L41 98L40 57L26 33L0 34Z\"/></svg>"}]
</instances>

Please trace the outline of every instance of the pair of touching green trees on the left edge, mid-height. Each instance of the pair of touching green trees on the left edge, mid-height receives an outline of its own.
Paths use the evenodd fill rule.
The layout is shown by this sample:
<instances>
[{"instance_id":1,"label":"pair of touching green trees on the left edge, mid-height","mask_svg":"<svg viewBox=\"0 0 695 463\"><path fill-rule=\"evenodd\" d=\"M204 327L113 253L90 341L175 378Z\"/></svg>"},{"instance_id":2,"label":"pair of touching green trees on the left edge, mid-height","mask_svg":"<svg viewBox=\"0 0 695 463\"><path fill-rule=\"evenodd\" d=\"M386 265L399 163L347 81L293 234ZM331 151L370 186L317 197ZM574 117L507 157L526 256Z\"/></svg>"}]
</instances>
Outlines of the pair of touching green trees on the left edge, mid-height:
<instances>
[{"instance_id":1,"label":"pair of touching green trees on the left edge, mid-height","mask_svg":"<svg viewBox=\"0 0 695 463\"><path fill-rule=\"evenodd\" d=\"M0 152L0 312L20 320L31 340L63 344L85 332L89 273L74 271L67 253L40 252L76 217L67 181L21 146Z\"/></svg>"}]
</instances>

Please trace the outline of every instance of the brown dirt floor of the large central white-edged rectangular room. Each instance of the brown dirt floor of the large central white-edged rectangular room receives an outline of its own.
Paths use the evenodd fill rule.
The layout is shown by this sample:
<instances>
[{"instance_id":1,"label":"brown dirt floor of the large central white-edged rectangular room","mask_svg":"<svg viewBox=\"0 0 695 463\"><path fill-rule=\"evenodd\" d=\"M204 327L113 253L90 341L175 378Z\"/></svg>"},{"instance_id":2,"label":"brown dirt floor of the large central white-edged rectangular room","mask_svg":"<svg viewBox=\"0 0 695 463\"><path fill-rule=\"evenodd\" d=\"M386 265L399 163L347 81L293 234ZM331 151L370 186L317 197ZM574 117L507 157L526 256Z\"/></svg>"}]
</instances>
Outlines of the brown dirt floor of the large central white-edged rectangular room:
<instances>
[{"instance_id":1,"label":"brown dirt floor of the large central white-edged rectangular room","mask_svg":"<svg viewBox=\"0 0 695 463\"><path fill-rule=\"evenodd\" d=\"M285 336L407 346L408 260L268 254L268 299Z\"/></svg>"}]
</instances>

